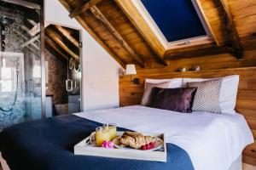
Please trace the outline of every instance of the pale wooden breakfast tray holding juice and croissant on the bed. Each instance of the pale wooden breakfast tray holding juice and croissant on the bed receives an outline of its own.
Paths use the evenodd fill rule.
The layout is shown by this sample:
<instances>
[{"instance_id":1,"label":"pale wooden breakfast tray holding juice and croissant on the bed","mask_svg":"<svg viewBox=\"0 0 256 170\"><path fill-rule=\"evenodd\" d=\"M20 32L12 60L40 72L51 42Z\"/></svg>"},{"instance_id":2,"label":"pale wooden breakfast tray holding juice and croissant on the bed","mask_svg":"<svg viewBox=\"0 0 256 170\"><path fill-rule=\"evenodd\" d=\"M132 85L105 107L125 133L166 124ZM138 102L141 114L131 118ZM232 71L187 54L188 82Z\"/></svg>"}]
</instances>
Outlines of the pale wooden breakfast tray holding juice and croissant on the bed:
<instances>
[{"instance_id":1,"label":"pale wooden breakfast tray holding juice and croissant on the bed","mask_svg":"<svg viewBox=\"0 0 256 170\"><path fill-rule=\"evenodd\" d=\"M121 136L124 132L117 132ZM163 140L163 147L159 150L136 150L136 149L108 149L96 147L90 144L90 136L74 146L75 155L83 156L102 156L145 161L164 161L166 162L166 140L164 133L143 133L143 135L156 136Z\"/></svg>"}]
</instances>

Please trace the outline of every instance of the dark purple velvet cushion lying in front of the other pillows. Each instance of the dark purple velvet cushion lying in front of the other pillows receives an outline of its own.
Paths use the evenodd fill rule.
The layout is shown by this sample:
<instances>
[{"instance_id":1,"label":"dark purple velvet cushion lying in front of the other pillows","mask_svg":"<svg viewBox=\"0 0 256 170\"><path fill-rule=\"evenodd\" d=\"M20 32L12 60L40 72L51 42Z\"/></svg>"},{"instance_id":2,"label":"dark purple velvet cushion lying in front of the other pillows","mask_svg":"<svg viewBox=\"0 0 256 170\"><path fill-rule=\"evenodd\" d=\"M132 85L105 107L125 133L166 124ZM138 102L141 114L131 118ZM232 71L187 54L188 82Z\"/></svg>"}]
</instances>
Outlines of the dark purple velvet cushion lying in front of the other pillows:
<instances>
[{"instance_id":1,"label":"dark purple velvet cushion lying in front of the other pillows","mask_svg":"<svg viewBox=\"0 0 256 170\"><path fill-rule=\"evenodd\" d=\"M191 113L197 88L153 88L150 107Z\"/></svg>"}]
</instances>

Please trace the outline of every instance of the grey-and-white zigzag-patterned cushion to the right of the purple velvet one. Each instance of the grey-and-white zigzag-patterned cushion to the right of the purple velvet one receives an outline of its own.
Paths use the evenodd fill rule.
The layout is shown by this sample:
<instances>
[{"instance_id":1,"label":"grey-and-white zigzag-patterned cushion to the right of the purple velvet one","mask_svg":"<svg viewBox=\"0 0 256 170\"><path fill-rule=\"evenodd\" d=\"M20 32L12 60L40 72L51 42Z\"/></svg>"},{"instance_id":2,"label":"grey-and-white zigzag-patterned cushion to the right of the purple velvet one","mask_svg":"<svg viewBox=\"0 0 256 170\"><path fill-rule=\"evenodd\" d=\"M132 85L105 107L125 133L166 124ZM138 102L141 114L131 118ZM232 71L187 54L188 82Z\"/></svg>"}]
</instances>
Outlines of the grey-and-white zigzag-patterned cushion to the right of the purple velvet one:
<instances>
[{"instance_id":1,"label":"grey-and-white zigzag-patterned cushion to the right of the purple velvet one","mask_svg":"<svg viewBox=\"0 0 256 170\"><path fill-rule=\"evenodd\" d=\"M197 88L192 111L221 113L219 107L221 83L222 79L204 82L188 82L188 88Z\"/></svg>"}]
</instances>

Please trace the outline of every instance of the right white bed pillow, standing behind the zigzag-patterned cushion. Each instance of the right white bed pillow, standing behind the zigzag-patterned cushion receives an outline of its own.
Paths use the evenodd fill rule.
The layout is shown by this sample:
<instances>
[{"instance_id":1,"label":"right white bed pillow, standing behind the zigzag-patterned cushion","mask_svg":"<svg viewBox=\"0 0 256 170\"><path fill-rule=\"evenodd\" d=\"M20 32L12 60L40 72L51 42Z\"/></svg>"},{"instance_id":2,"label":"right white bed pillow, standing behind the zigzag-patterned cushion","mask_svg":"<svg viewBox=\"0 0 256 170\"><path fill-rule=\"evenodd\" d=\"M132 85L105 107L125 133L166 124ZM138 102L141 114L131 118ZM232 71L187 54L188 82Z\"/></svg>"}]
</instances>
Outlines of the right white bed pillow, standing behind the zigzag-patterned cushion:
<instances>
[{"instance_id":1,"label":"right white bed pillow, standing behind the zigzag-patterned cushion","mask_svg":"<svg viewBox=\"0 0 256 170\"><path fill-rule=\"evenodd\" d=\"M223 79L219 94L219 108L222 113L236 114L236 95L239 84L239 75L220 77ZM187 82L202 82L218 78L183 78L183 86Z\"/></svg>"}]
</instances>

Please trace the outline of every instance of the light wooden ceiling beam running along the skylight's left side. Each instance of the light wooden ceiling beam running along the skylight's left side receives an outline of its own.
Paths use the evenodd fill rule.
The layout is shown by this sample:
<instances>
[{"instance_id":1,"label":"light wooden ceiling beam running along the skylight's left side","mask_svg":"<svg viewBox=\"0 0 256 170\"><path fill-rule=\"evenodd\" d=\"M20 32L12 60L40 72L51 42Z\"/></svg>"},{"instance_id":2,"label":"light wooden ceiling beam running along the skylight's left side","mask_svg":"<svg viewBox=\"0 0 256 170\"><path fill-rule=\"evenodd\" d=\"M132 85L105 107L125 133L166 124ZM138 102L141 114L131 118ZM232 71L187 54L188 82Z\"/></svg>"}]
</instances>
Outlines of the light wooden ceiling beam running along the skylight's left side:
<instances>
[{"instance_id":1,"label":"light wooden ceiling beam running along the skylight's left side","mask_svg":"<svg viewBox=\"0 0 256 170\"><path fill-rule=\"evenodd\" d=\"M115 0L115 2L119 5L119 8L122 9L133 26L137 28L137 31L142 35L145 41L148 42L149 47L153 49L154 54L160 63L167 65L166 61L163 59L163 54L166 50L165 47L161 44L158 37L154 35L154 32L148 26L148 23L143 19L143 16L139 13L131 0Z\"/></svg>"}]
</instances>

